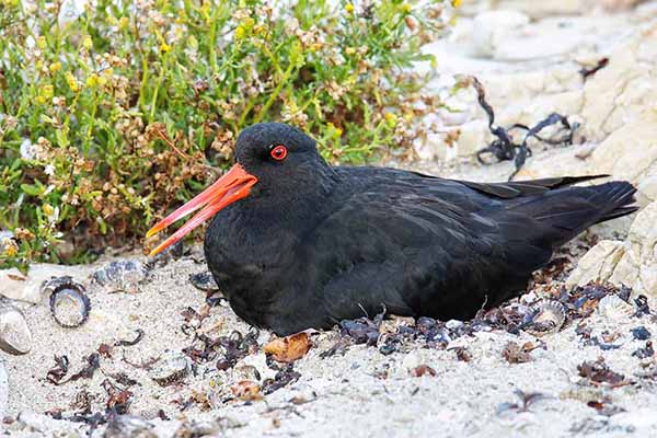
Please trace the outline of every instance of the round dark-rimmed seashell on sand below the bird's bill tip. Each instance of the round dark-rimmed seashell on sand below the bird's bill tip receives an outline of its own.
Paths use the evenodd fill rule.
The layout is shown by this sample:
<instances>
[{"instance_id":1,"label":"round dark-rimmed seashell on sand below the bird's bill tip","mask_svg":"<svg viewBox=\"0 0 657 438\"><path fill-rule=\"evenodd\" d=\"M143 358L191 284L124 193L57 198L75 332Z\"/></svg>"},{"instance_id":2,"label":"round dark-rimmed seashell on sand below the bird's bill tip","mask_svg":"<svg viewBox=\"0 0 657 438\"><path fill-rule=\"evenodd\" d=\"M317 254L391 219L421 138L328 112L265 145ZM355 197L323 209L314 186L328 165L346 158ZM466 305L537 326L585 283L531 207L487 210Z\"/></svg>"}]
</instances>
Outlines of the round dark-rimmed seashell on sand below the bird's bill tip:
<instances>
[{"instance_id":1,"label":"round dark-rimmed seashell on sand below the bird's bill tip","mask_svg":"<svg viewBox=\"0 0 657 438\"><path fill-rule=\"evenodd\" d=\"M89 319L91 301L84 286L69 276L44 281L42 290L50 293L50 313L62 327L78 327Z\"/></svg>"}]
</instances>

